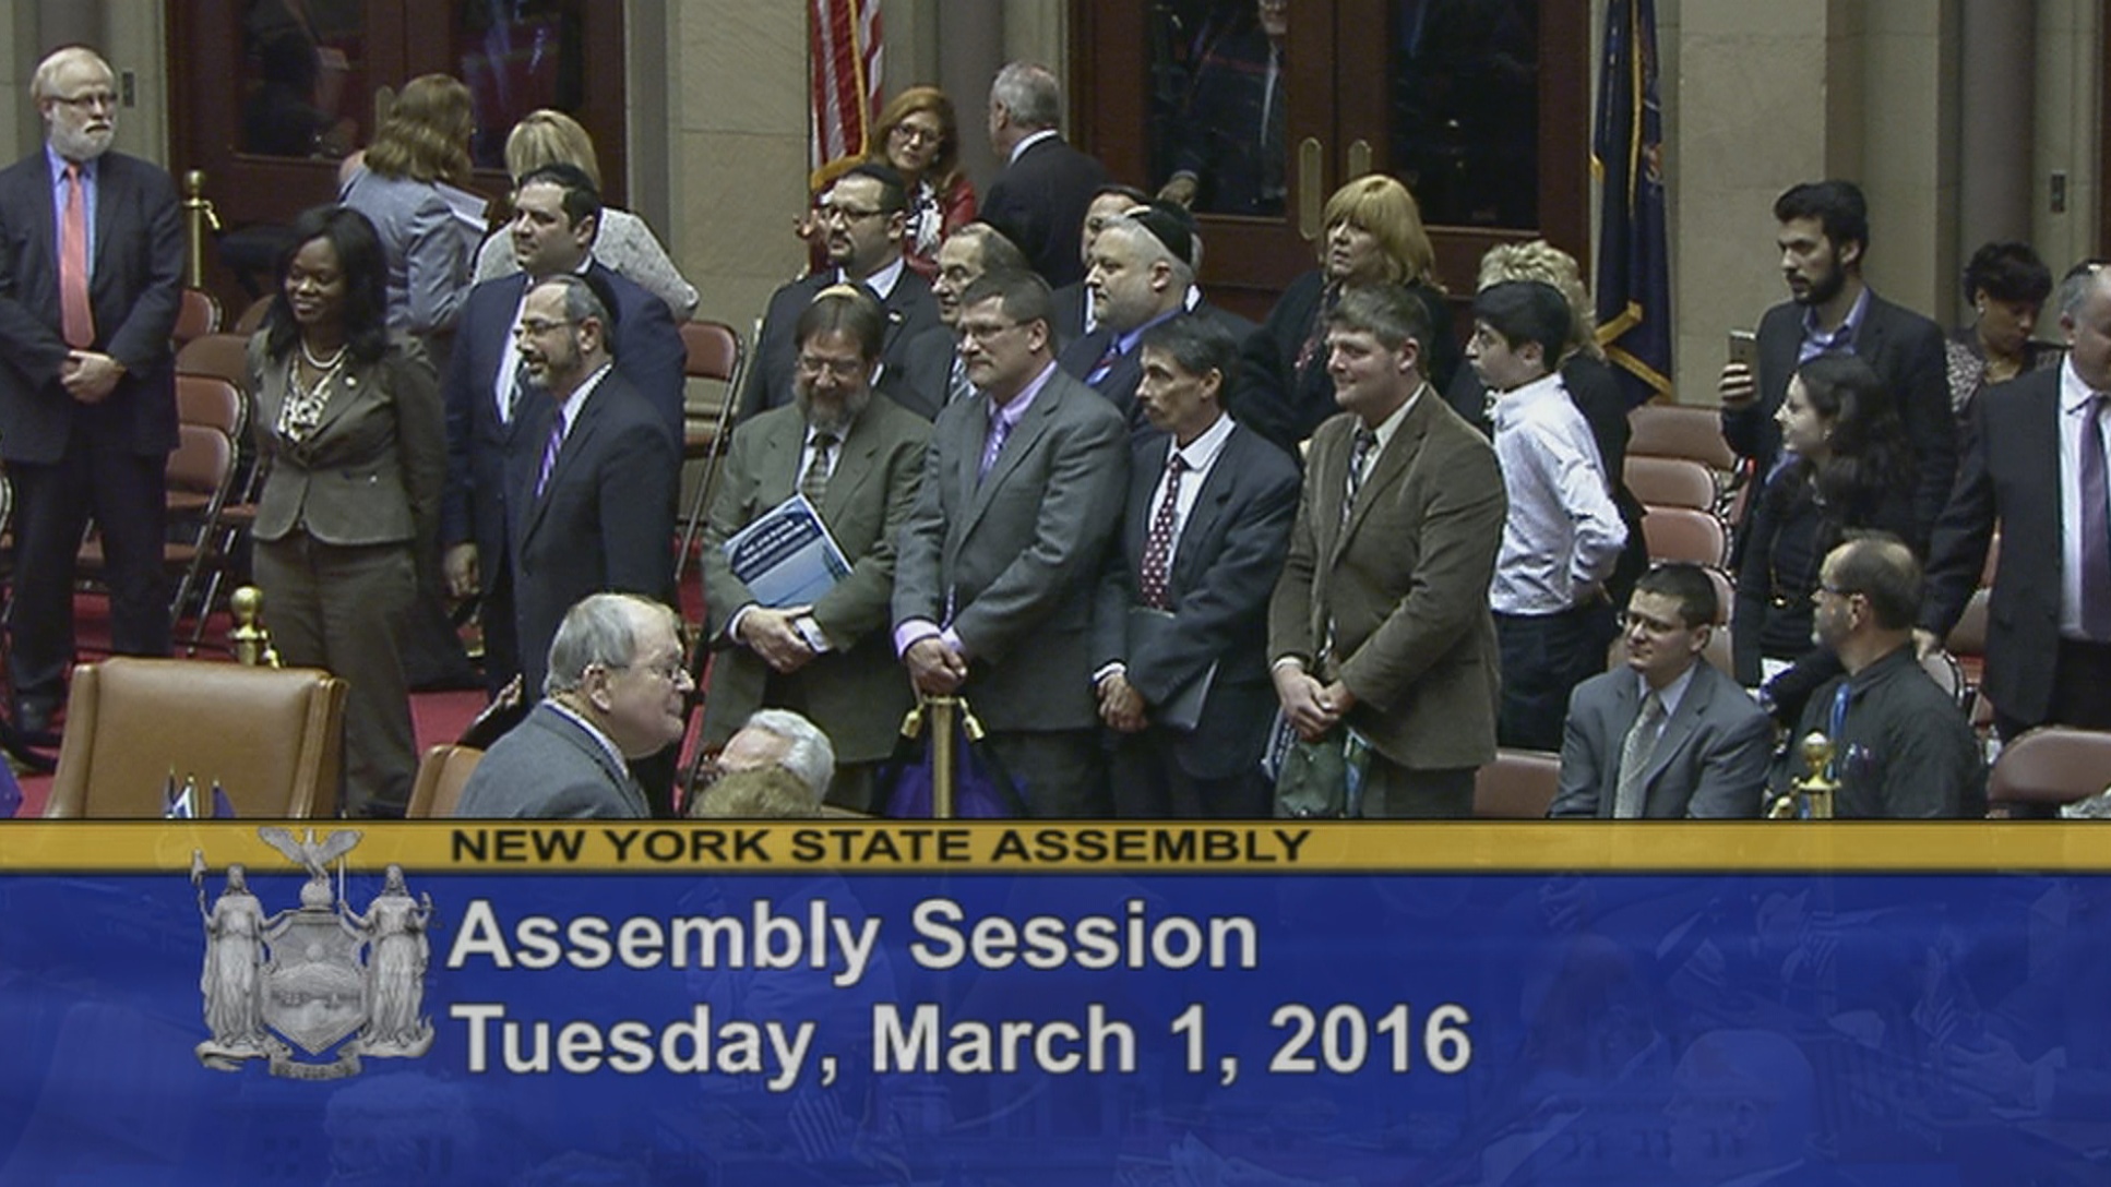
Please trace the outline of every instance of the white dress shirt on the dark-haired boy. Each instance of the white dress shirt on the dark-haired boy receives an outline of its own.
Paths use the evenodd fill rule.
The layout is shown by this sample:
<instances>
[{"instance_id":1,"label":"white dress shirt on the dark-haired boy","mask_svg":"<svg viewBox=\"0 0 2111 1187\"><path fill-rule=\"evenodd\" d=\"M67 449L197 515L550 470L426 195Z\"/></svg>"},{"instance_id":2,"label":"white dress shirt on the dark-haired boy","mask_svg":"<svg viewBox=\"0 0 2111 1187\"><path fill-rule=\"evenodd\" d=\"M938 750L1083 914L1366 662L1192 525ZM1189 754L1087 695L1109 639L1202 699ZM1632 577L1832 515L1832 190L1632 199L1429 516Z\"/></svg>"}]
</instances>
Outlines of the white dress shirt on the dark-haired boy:
<instances>
[{"instance_id":1,"label":"white dress shirt on the dark-haired boy","mask_svg":"<svg viewBox=\"0 0 2111 1187\"><path fill-rule=\"evenodd\" d=\"M1488 607L1560 614L1604 582L1628 544L1598 460L1598 443L1562 377L1541 375L1495 405L1495 458L1509 517L1495 559Z\"/></svg>"}]
</instances>

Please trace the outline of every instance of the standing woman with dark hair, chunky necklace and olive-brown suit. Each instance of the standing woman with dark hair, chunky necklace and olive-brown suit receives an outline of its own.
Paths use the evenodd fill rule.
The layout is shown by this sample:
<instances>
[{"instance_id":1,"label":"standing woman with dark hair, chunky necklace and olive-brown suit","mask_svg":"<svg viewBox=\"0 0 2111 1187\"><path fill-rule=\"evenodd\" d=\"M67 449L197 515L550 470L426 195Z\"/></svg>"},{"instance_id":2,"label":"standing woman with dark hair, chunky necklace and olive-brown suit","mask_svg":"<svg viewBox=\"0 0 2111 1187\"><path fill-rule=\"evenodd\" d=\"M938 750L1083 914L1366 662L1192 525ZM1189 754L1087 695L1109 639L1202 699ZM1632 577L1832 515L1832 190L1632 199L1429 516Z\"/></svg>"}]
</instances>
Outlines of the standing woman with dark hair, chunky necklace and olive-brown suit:
<instances>
[{"instance_id":1,"label":"standing woman with dark hair, chunky necklace and olive-brown suit","mask_svg":"<svg viewBox=\"0 0 2111 1187\"><path fill-rule=\"evenodd\" d=\"M258 458L270 466L255 578L279 656L348 685L344 786L359 816L401 816L410 801L403 639L448 474L439 382L414 339L388 335L386 272L365 215L306 211L249 339Z\"/></svg>"}]
</instances>

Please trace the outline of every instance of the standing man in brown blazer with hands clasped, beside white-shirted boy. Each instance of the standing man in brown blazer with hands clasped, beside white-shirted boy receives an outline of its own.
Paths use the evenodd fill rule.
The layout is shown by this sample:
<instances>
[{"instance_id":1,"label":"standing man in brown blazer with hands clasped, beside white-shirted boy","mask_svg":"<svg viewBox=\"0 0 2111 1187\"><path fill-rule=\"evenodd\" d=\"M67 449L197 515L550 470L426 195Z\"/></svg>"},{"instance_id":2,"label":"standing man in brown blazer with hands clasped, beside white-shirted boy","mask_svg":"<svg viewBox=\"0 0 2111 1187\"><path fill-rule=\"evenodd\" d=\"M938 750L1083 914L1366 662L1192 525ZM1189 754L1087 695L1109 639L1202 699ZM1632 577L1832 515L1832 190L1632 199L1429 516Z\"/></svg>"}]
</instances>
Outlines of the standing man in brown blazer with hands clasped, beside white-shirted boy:
<instances>
[{"instance_id":1,"label":"standing man in brown blazer with hands clasped, beside white-shirted boy","mask_svg":"<svg viewBox=\"0 0 2111 1187\"><path fill-rule=\"evenodd\" d=\"M1423 375L1429 314L1402 287L1328 314L1343 415L1313 432L1269 603L1283 717L1307 742L1368 742L1364 816L1471 816L1495 757L1488 580L1503 538L1495 449Z\"/></svg>"}]
</instances>

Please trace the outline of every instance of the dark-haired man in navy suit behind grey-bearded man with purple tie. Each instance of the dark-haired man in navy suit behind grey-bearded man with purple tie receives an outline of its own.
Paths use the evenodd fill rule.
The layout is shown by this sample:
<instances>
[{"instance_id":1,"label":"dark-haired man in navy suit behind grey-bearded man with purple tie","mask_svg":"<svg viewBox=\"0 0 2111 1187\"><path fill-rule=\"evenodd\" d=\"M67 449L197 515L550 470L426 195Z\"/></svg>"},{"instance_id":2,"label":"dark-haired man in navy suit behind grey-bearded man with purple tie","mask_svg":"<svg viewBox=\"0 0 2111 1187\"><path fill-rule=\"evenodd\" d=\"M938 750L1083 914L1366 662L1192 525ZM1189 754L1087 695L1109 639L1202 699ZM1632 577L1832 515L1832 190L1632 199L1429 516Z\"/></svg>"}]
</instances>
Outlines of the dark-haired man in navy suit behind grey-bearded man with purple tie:
<instances>
[{"instance_id":1,"label":"dark-haired man in navy suit behind grey-bearded man with purple tie","mask_svg":"<svg viewBox=\"0 0 2111 1187\"><path fill-rule=\"evenodd\" d=\"M469 291L456 323L454 350L441 388L448 405L448 489L439 538L445 546L448 592L483 601L483 681L498 694L521 673L513 637L513 548L509 531L521 510L509 504L509 468L534 466L549 432L549 403L524 398L530 384L519 342L528 289L551 276L587 276L610 293L604 327L616 371L652 405L673 451L669 481L682 462L682 384L686 350L667 304L593 259L602 196L581 169L547 164L521 177L513 192L513 257L521 270ZM521 462L526 460L526 462ZM540 656L528 656L540 666ZM536 685L526 687L532 700Z\"/></svg>"}]
</instances>

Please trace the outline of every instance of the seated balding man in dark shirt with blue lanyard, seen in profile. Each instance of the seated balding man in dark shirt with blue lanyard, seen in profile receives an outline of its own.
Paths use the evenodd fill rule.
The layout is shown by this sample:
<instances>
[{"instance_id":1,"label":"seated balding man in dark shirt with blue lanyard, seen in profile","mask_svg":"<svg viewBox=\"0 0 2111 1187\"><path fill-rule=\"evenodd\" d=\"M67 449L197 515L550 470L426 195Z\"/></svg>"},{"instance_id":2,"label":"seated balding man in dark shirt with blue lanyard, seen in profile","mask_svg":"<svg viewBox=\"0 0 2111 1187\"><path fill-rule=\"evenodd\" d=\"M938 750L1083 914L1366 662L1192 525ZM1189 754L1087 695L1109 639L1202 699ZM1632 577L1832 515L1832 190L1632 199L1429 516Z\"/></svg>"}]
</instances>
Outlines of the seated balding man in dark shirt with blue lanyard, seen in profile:
<instances>
[{"instance_id":1,"label":"seated balding man in dark shirt with blue lanyard, seen in profile","mask_svg":"<svg viewBox=\"0 0 2111 1187\"><path fill-rule=\"evenodd\" d=\"M1913 550L1885 536L1849 540L1826 554L1811 597L1811 633L1847 675L1818 685L1794 736L1832 740L1832 816L1986 816L1986 772L1972 723L1915 658L1921 565ZM1792 744L1777 763L1773 793L1786 793L1803 774L1803 746Z\"/></svg>"}]
</instances>

